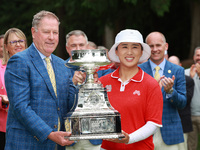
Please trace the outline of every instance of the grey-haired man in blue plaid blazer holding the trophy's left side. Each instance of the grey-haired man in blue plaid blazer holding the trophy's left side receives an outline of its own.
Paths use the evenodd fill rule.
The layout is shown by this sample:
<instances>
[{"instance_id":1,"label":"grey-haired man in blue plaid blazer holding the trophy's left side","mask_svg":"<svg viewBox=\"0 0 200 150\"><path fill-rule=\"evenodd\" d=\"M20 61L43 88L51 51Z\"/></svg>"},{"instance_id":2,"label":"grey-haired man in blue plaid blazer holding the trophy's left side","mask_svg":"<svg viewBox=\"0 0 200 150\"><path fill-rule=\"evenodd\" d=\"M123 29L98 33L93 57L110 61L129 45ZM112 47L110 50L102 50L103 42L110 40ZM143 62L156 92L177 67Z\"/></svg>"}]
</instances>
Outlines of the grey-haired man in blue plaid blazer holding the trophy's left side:
<instances>
[{"instance_id":1,"label":"grey-haired man in blue plaid blazer holding the trophy's left side","mask_svg":"<svg viewBox=\"0 0 200 150\"><path fill-rule=\"evenodd\" d=\"M64 138L71 134L64 132L64 117L75 105L74 85L82 77L77 73L72 79L64 60L52 54L59 41L59 19L55 14L37 13L31 32L33 43L10 58L5 72L10 101L5 149L64 149L73 143ZM46 57L54 70L56 91L47 72Z\"/></svg>"}]
</instances>

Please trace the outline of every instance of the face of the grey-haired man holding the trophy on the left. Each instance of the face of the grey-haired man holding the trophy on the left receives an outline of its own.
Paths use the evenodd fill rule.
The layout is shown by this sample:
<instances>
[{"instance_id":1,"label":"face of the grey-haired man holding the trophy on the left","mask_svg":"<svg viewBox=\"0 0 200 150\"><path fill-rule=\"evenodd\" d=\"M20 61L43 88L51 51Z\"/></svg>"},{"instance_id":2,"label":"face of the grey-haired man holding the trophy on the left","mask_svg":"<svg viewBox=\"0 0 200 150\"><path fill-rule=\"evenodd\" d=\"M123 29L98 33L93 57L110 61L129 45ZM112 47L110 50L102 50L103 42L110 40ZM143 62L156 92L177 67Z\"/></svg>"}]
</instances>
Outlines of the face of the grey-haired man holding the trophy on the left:
<instances>
[{"instance_id":1,"label":"face of the grey-haired man holding the trophy on the left","mask_svg":"<svg viewBox=\"0 0 200 150\"><path fill-rule=\"evenodd\" d=\"M33 42L42 54L50 56L59 42L59 22L53 17L44 17L37 30L31 29Z\"/></svg>"}]
</instances>

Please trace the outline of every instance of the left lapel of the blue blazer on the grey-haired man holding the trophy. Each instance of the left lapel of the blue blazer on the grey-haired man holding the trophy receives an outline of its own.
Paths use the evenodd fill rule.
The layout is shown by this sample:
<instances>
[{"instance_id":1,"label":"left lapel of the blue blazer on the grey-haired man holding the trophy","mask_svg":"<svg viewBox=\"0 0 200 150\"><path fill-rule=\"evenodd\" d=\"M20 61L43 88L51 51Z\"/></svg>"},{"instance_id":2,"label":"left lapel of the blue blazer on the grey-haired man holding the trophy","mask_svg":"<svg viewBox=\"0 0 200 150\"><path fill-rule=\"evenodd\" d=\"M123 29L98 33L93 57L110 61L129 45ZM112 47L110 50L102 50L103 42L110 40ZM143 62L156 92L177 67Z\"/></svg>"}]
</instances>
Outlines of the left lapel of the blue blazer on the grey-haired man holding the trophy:
<instances>
[{"instance_id":1,"label":"left lapel of the blue blazer on the grey-haired man holding the trophy","mask_svg":"<svg viewBox=\"0 0 200 150\"><path fill-rule=\"evenodd\" d=\"M45 81L47 88L49 89L53 98L56 99L56 95L54 93L53 86L51 84L47 69L45 68L43 60L41 59L39 53L37 52L37 50L35 49L35 47L33 45L31 45L31 47L29 49L29 53L32 58L31 61L32 61L33 65L35 66L36 70L42 76L42 78Z\"/></svg>"}]
</instances>

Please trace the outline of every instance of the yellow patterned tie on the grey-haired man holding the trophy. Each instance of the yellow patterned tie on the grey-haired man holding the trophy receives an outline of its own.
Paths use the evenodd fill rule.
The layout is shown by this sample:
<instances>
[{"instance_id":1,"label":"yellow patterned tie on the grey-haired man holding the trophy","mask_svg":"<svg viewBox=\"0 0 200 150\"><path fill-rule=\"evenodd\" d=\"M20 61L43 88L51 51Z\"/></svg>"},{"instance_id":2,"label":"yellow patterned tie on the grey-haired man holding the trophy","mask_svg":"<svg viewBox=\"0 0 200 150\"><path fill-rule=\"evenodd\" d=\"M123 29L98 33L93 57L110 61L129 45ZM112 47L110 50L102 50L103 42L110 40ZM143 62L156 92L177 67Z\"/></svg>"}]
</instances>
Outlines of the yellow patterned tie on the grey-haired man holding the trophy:
<instances>
[{"instance_id":1,"label":"yellow patterned tie on the grey-haired man holding the trophy","mask_svg":"<svg viewBox=\"0 0 200 150\"><path fill-rule=\"evenodd\" d=\"M49 57L46 57L45 58L45 61L47 63L47 72L49 74L49 78L51 80L51 84L53 86L53 90L57 96L57 89L56 89L56 79L55 79L55 74L54 74L54 71L53 71L53 68L51 66L51 61L50 61L50 58Z\"/></svg>"}]
</instances>

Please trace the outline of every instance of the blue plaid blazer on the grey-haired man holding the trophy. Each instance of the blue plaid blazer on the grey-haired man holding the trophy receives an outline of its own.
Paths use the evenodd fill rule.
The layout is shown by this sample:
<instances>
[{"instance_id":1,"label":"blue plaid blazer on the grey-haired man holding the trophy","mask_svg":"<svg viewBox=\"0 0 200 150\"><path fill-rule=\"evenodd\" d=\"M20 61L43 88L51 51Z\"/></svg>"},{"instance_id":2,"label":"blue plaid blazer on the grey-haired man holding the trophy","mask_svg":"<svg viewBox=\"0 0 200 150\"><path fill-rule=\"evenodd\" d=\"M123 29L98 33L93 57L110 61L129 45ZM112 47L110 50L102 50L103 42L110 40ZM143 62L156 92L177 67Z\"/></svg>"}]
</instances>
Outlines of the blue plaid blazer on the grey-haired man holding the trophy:
<instances>
[{"instance_id":1,"label":"blue plaid blazer on the grey-haired man holding the trophy","mask_svg":"<svg viewBox=\"0 0 200 150\"><path fill-rule=\"evenodd\" d=\"M55 150L56 143L47 136L58 130L58 118L64 131L64 117L74 105L76 88L64 60L51 56L57 97L43 60L33 45L9 59L5 72L10 101L5 150Z\"/></svg>"}]
</instances>

